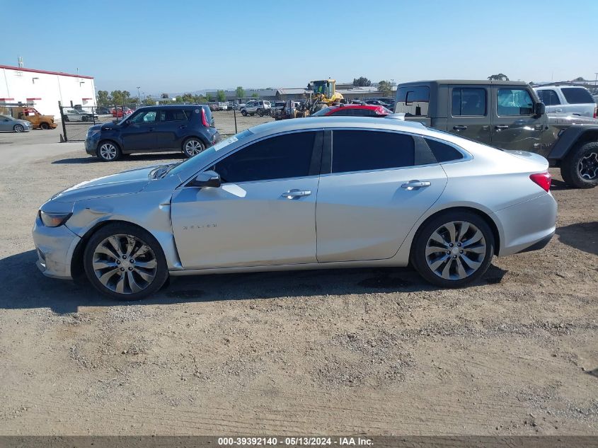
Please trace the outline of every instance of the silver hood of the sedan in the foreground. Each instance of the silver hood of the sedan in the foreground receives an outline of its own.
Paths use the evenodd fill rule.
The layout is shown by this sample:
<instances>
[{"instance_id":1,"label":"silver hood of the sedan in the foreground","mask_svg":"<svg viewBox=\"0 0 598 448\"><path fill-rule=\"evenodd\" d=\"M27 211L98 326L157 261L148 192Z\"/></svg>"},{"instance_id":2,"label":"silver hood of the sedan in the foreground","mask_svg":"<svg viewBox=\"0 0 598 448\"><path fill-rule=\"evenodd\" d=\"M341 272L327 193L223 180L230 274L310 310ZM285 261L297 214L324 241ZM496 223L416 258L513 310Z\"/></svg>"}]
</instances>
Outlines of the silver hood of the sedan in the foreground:
<instances>
[{"instance_id":1,"label":"silver hood of the sedan in the foreground","mask_svg":"<svg viewBox=\"0 0 598 448\"><path fill-rule=\"evenodd\" d=\"M149 173L156 166L148 166L146 168L123 171L112 176L86 180L57 193L52 196L52 200L57 202L75 202L95 197L138 193L150 182Z\"/></svg>"}]
</instances>

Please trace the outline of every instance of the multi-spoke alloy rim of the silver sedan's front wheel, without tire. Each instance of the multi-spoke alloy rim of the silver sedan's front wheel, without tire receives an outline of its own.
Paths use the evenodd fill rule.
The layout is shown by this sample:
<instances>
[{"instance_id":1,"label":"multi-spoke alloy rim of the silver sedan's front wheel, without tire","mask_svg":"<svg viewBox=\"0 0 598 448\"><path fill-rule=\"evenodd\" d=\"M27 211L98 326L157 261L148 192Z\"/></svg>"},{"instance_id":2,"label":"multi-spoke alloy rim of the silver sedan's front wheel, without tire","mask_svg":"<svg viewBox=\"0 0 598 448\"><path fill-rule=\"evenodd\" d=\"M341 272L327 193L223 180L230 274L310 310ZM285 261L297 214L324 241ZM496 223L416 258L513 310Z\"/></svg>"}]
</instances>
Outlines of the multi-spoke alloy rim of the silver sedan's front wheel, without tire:
<instances>
[{"instance_id":1,"label":"multi-spoke alloy rim of the silver sedan's front wheel, without tire","mask_svg":"<svg viewBox=\"0 0 598 448\"><path fill-rule=\"evenodd\" d=\"M157 270L154 251L137 236L108 236L93 252L93 272L104 287L118 294L143 291Z\"/></svg>"}]
</instances>

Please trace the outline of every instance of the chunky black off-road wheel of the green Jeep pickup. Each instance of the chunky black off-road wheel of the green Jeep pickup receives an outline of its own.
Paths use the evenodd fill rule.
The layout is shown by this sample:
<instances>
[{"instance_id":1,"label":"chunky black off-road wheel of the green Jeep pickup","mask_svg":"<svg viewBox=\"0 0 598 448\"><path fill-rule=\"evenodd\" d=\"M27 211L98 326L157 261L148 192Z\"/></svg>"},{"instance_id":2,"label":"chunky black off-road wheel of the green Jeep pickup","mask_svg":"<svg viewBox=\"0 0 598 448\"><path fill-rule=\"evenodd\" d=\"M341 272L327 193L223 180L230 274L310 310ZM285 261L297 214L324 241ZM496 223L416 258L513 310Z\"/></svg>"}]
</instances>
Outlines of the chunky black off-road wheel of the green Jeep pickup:
<instances>
[{"instance_id":1,"label":"chunky black off-road wheel of the green Jeep pickup","mask_svg":"<svg viewBox=\"0 0 598 448\"><path fill-rule=\"evenodd\" d=\"M588 142L572 149L560 166L560 175L573 188L598 185L598 142Z\"/></svg>"}]
</instances>

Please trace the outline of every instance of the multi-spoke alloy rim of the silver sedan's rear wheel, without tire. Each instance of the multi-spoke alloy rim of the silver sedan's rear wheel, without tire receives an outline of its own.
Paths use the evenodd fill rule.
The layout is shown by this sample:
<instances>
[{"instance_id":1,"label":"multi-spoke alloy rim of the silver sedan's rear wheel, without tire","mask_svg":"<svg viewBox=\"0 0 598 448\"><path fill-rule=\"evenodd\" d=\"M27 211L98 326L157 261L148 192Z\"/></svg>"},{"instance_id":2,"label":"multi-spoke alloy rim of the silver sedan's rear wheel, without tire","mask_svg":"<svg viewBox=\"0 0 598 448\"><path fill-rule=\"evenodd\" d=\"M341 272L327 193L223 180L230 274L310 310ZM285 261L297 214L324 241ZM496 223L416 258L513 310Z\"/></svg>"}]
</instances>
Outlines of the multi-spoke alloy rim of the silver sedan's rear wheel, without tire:
<instances>
[{"instance_id":1,"label":"multi-spoke alloy rim of the silver sedan's rear wheel, without tire","mask_svg":"<svg viewBox=\"0 0 598 448\"><path fill-rule=\"evenodd\" d=\"M486 242L480 229L466 221L442 224L432 232L425 248L428 268L444 280L461 280L480 268Z\"/></svg>"}]
</instances>

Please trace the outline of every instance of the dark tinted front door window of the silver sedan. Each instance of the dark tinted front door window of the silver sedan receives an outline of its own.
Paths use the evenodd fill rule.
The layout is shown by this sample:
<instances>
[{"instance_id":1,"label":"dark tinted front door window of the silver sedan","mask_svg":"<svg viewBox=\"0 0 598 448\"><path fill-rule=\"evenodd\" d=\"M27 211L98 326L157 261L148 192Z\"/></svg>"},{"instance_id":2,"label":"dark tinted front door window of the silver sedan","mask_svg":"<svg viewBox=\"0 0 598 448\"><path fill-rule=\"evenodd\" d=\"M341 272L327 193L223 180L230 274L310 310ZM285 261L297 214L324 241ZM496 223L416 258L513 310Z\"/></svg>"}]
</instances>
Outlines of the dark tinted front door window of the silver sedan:
<instances>
[{"instance_id":1,"label":"dark tinted front door window of the silver sedan","mask_svg":"<svg viewBox=\"0 0 598 448\"><path fill-rule=\"evenodd\" d=\"M315 132L294 132L249 145L216 164L223 182L309 176Z\"/></svg>"}]
</instances>

